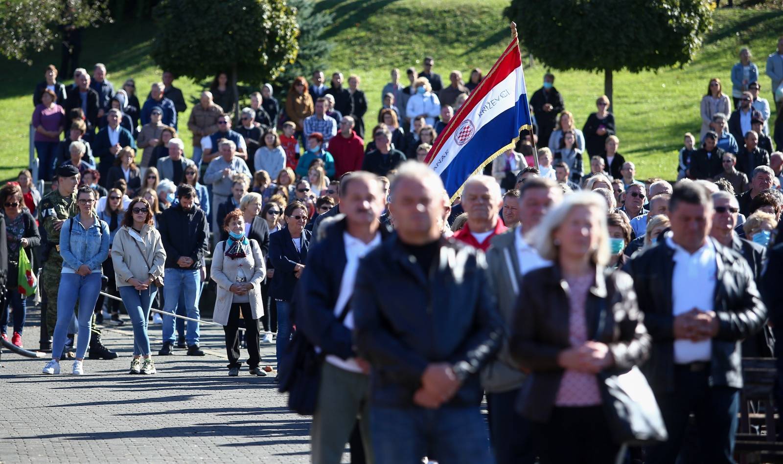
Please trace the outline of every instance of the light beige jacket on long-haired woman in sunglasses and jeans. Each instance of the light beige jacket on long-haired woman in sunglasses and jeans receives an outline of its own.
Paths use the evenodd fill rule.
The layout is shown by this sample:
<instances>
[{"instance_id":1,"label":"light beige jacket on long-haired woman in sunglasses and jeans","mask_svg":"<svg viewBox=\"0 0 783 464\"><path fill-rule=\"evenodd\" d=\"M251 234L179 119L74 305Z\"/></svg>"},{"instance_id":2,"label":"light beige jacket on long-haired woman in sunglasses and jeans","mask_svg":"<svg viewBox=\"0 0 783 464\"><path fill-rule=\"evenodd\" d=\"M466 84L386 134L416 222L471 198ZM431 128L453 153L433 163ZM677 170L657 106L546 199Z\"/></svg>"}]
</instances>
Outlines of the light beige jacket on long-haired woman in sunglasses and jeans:
<instances>
[{"instance_id":1,"label":"light beige jacket on long-haired woman in sunglasses and jeans","mask_svg":"<svg viewBox=\"0 0 783 464\"><path fill-rule=\"evenodd\" d=\"M136 247L136 243L139 247ZM139 253L139 248L143 253ZM111 261L114 263L114 275L117 288L130 286L131 278L146 280L149 275L163 279L163 264L166 262L166 250L163 248L161 234L151 225L145 225L141 234L123 225L114 236L111 245ZM148 267L151 265L151 268Z\"/></svg>"}]
</instances>

